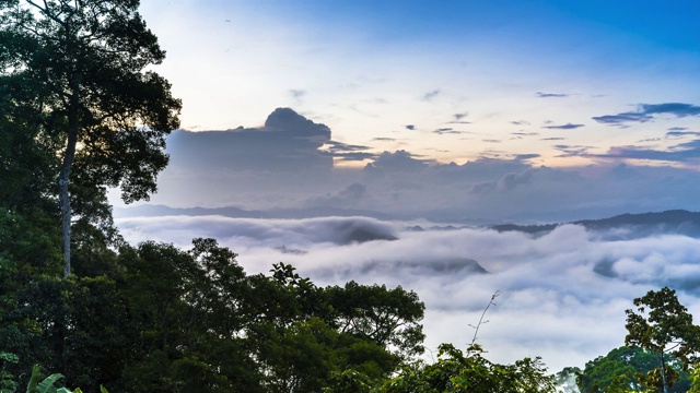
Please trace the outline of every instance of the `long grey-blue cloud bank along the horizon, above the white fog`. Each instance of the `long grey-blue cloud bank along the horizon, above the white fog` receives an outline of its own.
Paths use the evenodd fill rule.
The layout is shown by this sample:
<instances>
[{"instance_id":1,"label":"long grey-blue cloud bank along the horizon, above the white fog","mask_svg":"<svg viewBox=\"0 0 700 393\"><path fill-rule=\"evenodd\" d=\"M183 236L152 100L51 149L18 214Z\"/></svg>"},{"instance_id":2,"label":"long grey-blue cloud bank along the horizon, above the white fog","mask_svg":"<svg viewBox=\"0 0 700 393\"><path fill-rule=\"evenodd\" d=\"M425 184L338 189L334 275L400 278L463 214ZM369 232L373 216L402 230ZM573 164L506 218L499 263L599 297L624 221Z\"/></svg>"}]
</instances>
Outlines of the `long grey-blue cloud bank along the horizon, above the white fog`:
<instances>
[{"instance_id":1,"label":"long grey-blue cloud bank along the horizon, above the white fog","mask_svg":"<svg viewBox=\"0 0 700 393\"><path fill-rule=\"evenodd\" d=\"M646 116L695 114L695 107L687 105L641 108ZM582 126L547 127L567 130ZM435 132L446 139L451 136L445 134L463 131L443 128ZM324 215L335 209L332 214L340 214L340 210L362 211L366 212L363 215L375 217L453 222L575 221L670 209L700 210L696 186L700 183L700 171L691 169L700 167L697 135L685 129L664 132L664 142L676 142L666 148L626 145L600 152L574 143L550 147L560 152L559 157L598 163L591 167L536 166L533 163L541 157L539 154L498 151L491 152L491 157L485 153L464 164L442 164L407 150L382 152L369 144L335 141L328 127L292 109L278 108L259 128L174 132L167 141L172 162L159 179L160 191L152 202L177 207L306 210L305 214L288 215L296 217ZM537 135L526 131L512 134ZM364 166L339 167L334 159L336 164L354 162ZM666 166L632 166L628 160ZM670 167L668 163L689 169Z\"/></svg>"}]
</instances>

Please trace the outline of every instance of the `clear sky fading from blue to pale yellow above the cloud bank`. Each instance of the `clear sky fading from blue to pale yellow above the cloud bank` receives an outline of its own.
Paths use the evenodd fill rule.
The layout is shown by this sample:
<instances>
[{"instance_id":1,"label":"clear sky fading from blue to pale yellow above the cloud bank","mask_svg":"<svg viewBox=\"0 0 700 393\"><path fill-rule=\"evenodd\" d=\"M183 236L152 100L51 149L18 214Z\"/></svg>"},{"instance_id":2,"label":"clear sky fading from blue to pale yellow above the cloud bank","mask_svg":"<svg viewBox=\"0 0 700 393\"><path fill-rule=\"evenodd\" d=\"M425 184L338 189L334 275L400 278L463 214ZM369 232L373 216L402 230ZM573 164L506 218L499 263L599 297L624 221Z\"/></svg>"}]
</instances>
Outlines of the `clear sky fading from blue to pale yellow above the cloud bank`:
<instances>
[{"instance_id":1,"label":"clear sky fading from blue to pale yellow above the cloud bank","mask_svg":"<svg viewBox=\"0 0 700 393\"><path fill-rule=\"evenodd\" d=\"M697 1L151 0L142 13L188 130L257 127L291 107L369 152L457 164L536 154L548 166L682 150L698 135L666 133L700 131L697 114L594 119L700 105Z\"/></svg>"}]
</instances>

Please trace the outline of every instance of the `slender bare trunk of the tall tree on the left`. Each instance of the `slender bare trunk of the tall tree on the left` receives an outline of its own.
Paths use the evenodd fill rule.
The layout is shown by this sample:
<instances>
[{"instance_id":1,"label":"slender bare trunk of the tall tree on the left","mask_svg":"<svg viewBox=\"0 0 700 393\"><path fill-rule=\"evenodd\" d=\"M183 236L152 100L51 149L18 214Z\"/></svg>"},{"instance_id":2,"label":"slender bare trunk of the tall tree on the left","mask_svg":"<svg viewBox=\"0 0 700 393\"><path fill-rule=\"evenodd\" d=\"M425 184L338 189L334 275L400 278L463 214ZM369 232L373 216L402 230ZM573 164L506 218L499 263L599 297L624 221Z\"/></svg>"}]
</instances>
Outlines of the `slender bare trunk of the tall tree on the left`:
<instances>
[{"instance_id":1,"label":"slender bare trunk of the tall tree on the left","mask_svg":"<svg viewBox=\"0 0 700 393\"><path fill-rule=\"evenodd\" d=\"M58 176L58 198L61 205L61 246L63 250L63 279L70 275L70 224L72 211L70 207L70 170L75 158L78 144L78 105L80 99L80 78L71 82L70 108L68 110L68 142L63 153L61 171Z\"/></svg>"}]
</instances>

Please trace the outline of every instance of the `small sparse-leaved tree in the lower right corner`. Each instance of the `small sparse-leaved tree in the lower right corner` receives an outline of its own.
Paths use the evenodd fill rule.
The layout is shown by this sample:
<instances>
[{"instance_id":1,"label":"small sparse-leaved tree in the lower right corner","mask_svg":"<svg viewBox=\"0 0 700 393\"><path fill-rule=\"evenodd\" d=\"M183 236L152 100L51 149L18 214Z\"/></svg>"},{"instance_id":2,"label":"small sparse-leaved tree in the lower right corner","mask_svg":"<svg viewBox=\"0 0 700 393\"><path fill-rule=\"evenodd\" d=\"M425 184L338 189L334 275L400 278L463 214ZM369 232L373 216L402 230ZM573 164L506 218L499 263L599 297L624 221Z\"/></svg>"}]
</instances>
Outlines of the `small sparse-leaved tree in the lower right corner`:
<instances>
[{"instance_id":1,"label":"small sparse-leaved tree in the lower right corner","mask_svg":"<svg viewBox=\"0 0 700 393\"><path fill-rule=\"evenodd\" d=\"M697 360L700 326L693 325L692 315L678 301L675 289L650 290L633 302L637 310L625 311L629 332L625 344L651 350L657 356L658 367L648 373L645 382L668 393L678 378L669 361L672 357L678 357L685 369Z\"/></svg>"}]
</instances>

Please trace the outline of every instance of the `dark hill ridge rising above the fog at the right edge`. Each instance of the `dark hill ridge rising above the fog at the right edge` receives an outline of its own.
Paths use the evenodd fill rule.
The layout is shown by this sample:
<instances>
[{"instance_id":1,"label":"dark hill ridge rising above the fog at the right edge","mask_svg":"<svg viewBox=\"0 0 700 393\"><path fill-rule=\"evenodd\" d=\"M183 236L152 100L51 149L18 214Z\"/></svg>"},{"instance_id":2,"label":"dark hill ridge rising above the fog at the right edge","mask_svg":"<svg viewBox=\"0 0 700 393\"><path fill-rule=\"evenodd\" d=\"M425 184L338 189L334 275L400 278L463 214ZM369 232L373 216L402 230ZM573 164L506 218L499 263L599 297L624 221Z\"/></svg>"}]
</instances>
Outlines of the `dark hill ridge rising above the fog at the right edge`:
<instances>
[{"instance_id":1,"label":"dark hill ridge rising above the fog at the right edge","mask_svg":"<svg viewBox=\"0 0 700 393\"><path fill-rule=\"evenodd\" d=\"M670 210L657 213L620 214L602 219L582 219L571 223L545 225L503 224L491 226L498 231L516 230L527 234L547 234L560 225L583 225L588 230L628 229L616 236L634 238L652 234L676 234L700 237L700 212Z\"/></svg>"}]
</instances>

